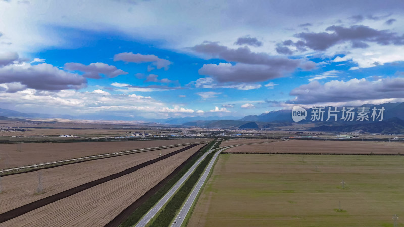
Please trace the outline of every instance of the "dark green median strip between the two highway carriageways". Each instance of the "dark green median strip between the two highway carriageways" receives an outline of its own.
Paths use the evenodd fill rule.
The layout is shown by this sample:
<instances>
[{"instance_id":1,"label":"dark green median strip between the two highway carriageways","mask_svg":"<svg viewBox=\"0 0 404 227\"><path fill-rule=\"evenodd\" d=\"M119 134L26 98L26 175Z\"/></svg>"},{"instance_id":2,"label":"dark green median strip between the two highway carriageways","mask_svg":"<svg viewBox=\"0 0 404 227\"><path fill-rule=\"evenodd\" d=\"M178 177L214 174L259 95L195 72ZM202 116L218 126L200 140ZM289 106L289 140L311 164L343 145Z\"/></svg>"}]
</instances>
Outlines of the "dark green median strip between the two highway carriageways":
<instances>
[{"instance_id":1,"label":"dark green median strip between the two highway carriageways","mask_svg":"<svg viewBox=\"0 0 404 227\"><path fill-rule=\"evenodd\" d=\"M177 211L181 208L185 202L189 193L193 189L194 185L198 182L200 176L203 174L205 167L209 164L214 154L208 154L206 158L199 164L184 185L175 193L173 198L167 203L165 208L159 213L157 218L151 223L150 226L169 226Z\"/></svg>"}]
</instances>

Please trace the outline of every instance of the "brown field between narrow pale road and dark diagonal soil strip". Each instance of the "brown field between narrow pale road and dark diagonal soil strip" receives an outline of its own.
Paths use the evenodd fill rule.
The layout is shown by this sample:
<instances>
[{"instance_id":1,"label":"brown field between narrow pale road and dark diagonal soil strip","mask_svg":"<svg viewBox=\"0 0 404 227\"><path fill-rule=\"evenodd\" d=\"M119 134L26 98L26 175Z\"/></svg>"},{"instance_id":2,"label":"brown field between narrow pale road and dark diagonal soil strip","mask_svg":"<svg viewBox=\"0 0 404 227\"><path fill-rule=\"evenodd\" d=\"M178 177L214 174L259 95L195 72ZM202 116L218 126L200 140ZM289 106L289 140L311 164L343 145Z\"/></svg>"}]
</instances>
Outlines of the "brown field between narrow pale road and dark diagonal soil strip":
<instances>
[{"instance_id":1,"label":"brown field between narrow pale road and dark diagonal soil strip","mask_svg":"<svg viewBox=\"0 0 404 227\"><path fill-rule=\"evenodd\" d=\"M199 145L197 147L200 148ZM163 149L168 154L183 147ZM198 149L199 149L198 148ZM192 148L195 150L196 148ZM126 156L76 163L40 171L42 173L42 194L37 194L38 173L29 172L2 177L3 193L0 194L0 213L31 203L33 201L63 192L84 183L118 173L129 167L159 157L160 151L148 151Z\"/></svg>"}]
</instances>

